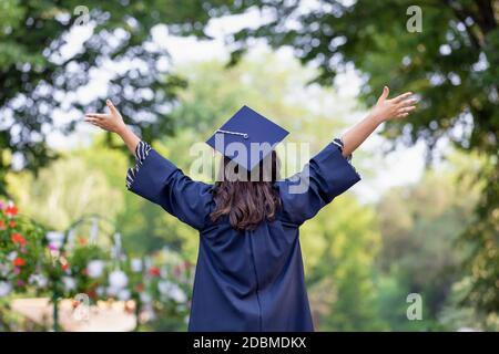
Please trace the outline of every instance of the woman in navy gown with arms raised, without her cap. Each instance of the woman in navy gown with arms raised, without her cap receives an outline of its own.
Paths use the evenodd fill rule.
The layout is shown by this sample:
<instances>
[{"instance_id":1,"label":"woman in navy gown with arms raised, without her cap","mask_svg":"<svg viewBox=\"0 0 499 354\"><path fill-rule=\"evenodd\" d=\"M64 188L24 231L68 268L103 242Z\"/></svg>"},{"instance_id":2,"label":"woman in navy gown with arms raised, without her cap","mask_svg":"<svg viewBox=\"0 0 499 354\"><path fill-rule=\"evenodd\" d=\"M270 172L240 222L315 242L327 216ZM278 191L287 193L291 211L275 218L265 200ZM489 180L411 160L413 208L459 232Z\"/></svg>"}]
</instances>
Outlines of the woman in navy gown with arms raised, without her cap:
<instances>
[{"instance_id":1,"label":"woman in navy gown with arms raised, without her cap","mask_svg":"<svg viewBox=\"0 0 499 354\"><path fill-rule=\"evenodd\" d=\"M296 176L279 179L272 152L258 164L259 180L227 176L225 158L221 176L232 178L214 185L193 181L141 142L109 100L109 114L86 114L86 122L120 135L134 154L128 188L200 231L190 331L314 330L298 229L360 179L349 157L375 128L415 110L410 92L393 100L388 93L385 87L370 114ZM306 189L293 192L301 184Z\"/></svg>"}]
</instances>

